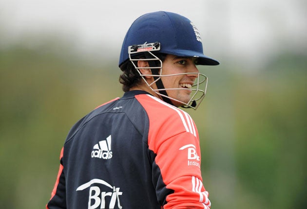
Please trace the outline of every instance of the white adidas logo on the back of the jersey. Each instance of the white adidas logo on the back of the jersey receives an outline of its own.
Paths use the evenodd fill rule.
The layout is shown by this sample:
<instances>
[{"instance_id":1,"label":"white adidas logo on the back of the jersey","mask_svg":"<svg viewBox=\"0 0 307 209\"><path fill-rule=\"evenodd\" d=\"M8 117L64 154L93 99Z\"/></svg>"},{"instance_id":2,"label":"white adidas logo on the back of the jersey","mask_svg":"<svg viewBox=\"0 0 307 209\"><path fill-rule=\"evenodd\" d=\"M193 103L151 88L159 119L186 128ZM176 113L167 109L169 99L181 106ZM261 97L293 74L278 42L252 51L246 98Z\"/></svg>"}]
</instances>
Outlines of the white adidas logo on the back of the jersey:
<instances>
[{"instance_id":1,"label":"white adidas logo on the back of the jersey","mask_svg":"<svg viewBox=\"0 0 307 209\"><path fill-rule=\"evenodd\" d=\"M111 135L102 141L99 141L97 144L94 145L92 151L92 158L102 158L102 159L110 159L112 158L112 151L111 151Z\"/></svg>"}]
</instances>

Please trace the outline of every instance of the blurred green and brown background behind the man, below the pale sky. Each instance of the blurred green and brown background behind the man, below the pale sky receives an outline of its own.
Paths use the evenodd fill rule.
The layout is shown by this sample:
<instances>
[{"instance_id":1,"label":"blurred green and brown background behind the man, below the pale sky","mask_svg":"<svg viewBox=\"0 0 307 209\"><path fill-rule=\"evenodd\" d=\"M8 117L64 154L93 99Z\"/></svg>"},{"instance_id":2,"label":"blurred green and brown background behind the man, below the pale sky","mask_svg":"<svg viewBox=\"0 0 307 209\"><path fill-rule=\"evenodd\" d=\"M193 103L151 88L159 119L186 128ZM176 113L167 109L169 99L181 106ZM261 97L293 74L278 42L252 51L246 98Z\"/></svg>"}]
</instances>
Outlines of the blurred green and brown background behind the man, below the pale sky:
<instances>
[{"instance_id":1,"label":"blurred green and brown background behind the man, below the pale sky","mask_svg":"<svg viewBox=\"0 0 307 209\"><path fill-rule=\"evenodd\" d=\"M0 209L44 208L71 126L123 94L118 57L93 61L50 34L0 41ZM221 65L199 67L207 96L187 112L212 209L306 208L307 52L290 43L253 63L231 59L221 43L212 56Z\"/></svg>"}]
</instances>

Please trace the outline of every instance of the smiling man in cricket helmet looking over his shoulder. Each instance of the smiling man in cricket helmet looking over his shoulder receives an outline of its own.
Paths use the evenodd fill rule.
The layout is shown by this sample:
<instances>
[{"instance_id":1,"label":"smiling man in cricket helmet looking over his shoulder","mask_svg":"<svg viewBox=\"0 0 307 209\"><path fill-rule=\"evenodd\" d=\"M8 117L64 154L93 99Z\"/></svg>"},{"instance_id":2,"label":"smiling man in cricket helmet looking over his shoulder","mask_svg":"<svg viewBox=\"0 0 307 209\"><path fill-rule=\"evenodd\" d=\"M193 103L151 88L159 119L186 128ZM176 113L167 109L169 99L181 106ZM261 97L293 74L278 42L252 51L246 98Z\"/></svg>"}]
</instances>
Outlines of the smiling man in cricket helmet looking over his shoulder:
<instances>
[{"instance_id":1,"label":"smiling man in cricket helmet looking over his shoulder","mask_svg":"<svg viewBox=\"0 0 307 209\"><path fill-rule=\"evenodd\" d=\"M177 108L196 109L205 96L197 64L219 63L204 55L189 19L161 11L137 18L119 59L125 94L72 127L47 209L210 208L198 132Z\"/></svg>"}]
</instances>

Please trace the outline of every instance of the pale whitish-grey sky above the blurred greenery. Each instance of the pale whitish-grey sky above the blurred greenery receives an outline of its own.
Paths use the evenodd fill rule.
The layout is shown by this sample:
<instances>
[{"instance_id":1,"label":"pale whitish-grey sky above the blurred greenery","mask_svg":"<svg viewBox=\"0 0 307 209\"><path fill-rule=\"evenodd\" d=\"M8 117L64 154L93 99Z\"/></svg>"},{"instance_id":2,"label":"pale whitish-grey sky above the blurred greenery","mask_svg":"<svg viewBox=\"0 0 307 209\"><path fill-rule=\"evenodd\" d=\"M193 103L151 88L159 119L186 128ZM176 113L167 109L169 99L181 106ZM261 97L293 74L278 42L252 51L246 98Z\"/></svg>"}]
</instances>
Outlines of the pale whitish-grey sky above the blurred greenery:
<instances>
[{"instance_id":1,"label":"pale whitish-grey sky above the blurred greenery","mask_svg":"<svg viewBox=\"0 0 307 209\"><path fill-rule=\"evenodd\" d=\"M305 0L0 0L0 47L63 37L84 54L114 57L134 19L163 10L192 20L205 54L258 62L307 51L306 8Z\"/></svg>"}]
</instances>

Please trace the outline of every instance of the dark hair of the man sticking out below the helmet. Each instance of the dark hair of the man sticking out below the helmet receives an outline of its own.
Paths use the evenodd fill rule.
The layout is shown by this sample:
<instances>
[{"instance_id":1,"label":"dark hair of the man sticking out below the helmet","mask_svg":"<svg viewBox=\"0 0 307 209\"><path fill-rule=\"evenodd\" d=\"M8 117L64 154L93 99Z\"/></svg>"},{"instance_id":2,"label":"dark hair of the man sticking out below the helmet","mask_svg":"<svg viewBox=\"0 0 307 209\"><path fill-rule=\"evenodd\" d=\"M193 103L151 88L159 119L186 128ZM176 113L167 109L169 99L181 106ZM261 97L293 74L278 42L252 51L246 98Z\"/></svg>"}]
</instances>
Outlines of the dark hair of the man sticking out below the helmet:
<instances>
[{"instance_id":1,"label":"dark hair of the man sticking out below the helmet","mask_svg":"<svg viewBox=\"0 0 307 209\"><path fill-rule=\"evenodd\" d=\"M164 53L154 53L154 55L156 55L162 62L166 58L166 54ZM145 54L140 54L133 58L135 59L145 58ZM133 62L134 62L134 65L137 66L137 61L133 61ZM140 84L140 82L142 81L142 77L140 76L138 71L134 68L134 65L132 64L130 60L126 60L120 66L120 70L122 70L123 72L119 76L119 83L123 85L122 89L124 92L129 91L130 88ZM155 66L159 66L159 65L160 65L159 62L156 61Z\"/></svg>"}]
</instances>

